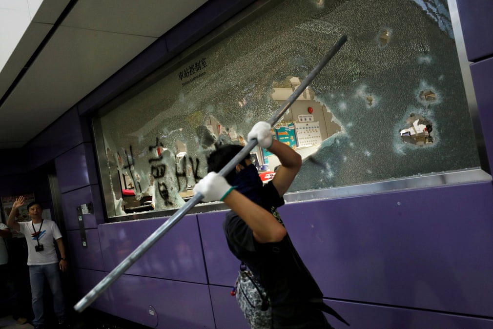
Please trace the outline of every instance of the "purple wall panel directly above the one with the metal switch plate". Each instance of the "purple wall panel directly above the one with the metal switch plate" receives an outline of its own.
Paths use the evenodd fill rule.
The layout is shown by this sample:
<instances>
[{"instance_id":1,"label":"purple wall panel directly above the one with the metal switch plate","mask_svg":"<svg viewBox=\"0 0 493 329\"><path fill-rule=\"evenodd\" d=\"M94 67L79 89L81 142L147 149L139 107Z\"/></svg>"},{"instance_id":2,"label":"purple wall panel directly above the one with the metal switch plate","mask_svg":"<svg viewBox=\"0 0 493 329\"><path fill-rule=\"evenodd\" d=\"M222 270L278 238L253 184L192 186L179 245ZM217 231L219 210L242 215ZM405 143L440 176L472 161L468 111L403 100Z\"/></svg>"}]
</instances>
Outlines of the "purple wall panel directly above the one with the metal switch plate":
<instances>
[{"instance_id":1,"label":"purple wall panel directly above the one with the metal switch plate","mask_svg":"<svg viewBox=\"0 0 493 329\"><path fill-rule=\"evenodd\" d=\"M62 193L98 183L91 144L83 143L55 159Z\"/></svg>"}]
</instances>

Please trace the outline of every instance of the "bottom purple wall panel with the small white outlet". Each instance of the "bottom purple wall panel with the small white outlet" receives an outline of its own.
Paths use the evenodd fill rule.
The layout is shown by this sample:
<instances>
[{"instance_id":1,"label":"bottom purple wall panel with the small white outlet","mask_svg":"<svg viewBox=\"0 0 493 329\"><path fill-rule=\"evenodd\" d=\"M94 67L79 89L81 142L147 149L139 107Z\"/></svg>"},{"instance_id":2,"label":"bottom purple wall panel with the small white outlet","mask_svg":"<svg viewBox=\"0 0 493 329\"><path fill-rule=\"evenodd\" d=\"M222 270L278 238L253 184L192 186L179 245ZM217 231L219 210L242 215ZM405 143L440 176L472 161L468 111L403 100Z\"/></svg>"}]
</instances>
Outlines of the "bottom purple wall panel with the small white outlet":
<instances>
[{"instance_id":1,"label":"bottom purple wall panel with the small white outlet","mask_svg":"<svg viewBox=\"0 0 493 329\"><path fill-rule=\"evenodd\" d=\"M162 329L215 328L207 285L122 275L111 292L118 317Z\"/></svg>"}]
</instances>

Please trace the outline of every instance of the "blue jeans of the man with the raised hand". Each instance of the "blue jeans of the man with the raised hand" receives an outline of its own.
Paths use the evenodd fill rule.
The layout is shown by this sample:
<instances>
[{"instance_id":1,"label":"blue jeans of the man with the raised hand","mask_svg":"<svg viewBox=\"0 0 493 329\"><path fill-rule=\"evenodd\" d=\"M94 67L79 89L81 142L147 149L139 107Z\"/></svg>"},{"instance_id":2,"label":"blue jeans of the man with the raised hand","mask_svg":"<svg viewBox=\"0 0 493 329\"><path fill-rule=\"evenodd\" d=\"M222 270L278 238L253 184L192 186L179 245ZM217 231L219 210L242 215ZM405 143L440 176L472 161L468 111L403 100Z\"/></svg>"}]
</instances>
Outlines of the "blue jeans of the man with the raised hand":
<instances>
[{"instance_id":1,"label":"blue jeans of the man with the raised hand","mask_svg":"<svg viewBox=\"0 0 493 329\"><path fill-rule=\"evenodd\" d=\"M53 294L53 310L59 322L65 321L65 301L62 291L62 281L58 271L58 263L47 265L30 265L31 292L33 295L33 311L35 319L33 325L44 325L43 288L44 279L48 281Z\"/></svg>"}]
</instances>

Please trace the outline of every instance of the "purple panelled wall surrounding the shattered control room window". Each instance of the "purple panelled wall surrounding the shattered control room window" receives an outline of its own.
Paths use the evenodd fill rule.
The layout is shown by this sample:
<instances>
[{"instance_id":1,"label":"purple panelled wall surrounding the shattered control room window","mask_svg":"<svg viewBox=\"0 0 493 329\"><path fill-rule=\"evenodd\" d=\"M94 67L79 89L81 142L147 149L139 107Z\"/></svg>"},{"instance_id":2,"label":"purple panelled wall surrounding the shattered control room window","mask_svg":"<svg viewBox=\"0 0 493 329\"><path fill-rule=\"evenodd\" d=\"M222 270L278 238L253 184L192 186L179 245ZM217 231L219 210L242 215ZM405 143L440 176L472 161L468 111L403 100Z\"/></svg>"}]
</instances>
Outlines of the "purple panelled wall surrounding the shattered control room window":
<instances>
[{"instance_id":1,"label":"purple panelled wall surrounding the shattered control room window","mask_svg":"<svg viewBox=\"0 0 493 329\"><path fill-rule=\"evenodd\" d=\"M25 149L0 151L1 195L47 195L40 166L54 162L80 296L165 220L104 223L86 115L251 2L208 1ZM493 163L492 1L458 0L458 8ZM24 154L32 154L28 165ZM12 158L22 161L5 161ZM352 328L493 329L492 199L487 182L288 204L280 212L327 303ZM86 247L76 215L84 203L95 209L82 217ZM229 294L239 261L226 247L223 216L186 216L91 307L152 328L246 329Z\"/></svg>"}]
</instances>

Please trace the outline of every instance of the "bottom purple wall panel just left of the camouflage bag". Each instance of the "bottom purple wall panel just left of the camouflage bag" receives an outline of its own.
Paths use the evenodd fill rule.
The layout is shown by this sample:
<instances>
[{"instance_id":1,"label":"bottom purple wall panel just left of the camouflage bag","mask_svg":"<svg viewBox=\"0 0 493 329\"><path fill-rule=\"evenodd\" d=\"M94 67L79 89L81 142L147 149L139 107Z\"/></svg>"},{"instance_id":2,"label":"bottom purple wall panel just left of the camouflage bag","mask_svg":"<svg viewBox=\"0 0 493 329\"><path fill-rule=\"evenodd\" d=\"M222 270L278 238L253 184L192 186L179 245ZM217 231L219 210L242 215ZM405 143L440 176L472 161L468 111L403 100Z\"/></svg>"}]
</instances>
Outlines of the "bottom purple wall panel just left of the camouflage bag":
<instances>
[{"instance_id":1,"label":"bottom purple wall panel just left of the camouflage bag","mask_svg":"<svg viewBox=\"0 0 493 329\"><path fill-rule=\"evenodd\" d=\"M210 286L209 290L216 329L250 329L236 298L230 295L231 288Z\"/></svg>"}]
</instances>

